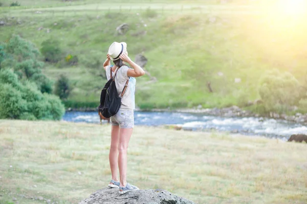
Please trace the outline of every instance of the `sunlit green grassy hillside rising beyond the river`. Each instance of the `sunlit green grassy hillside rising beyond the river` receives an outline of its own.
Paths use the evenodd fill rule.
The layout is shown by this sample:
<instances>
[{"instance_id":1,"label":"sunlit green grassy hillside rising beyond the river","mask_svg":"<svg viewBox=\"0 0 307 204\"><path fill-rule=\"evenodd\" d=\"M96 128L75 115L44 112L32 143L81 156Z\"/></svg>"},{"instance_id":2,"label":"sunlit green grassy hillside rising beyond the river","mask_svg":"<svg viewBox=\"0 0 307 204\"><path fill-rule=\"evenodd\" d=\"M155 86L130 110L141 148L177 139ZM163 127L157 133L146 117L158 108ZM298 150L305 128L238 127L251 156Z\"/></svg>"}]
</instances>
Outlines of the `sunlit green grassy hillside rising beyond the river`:
<instances>
[{"instance_id":1,"label":"sunlit green grassy hillside rising beyond the river","mask_svg":"<svg viewBox=\"0 0 307 204\"><path fill-rule=\"evenodd\" d=\"M30 1L24 2L30 6ZM304 85L306 16L288 16L259 5L211 5L213 1L210 5L200 1L46 2L48 8L37 8L46 6L45 2L33 9L2 8L2 18L11 25L0 27L0 40L19 34L40 47L42 41L55 38L65 55L77 55L76 66L46 64L44 70L54 80L60 74L69 77L73 103L97 106L105 83L98 75L113 41L126 41L132 59L143 53L148 58L146 71L157 78L138 79L136 100L141 108L241 105L259 98L259 78L272 69L288 71ZM115 35L123 22L129 31ZM142 31L146 34L136 36ZM235 78L241 81L235 83ZM213 93L207 88L209 81Z\"/></svg>"}]
</instances>

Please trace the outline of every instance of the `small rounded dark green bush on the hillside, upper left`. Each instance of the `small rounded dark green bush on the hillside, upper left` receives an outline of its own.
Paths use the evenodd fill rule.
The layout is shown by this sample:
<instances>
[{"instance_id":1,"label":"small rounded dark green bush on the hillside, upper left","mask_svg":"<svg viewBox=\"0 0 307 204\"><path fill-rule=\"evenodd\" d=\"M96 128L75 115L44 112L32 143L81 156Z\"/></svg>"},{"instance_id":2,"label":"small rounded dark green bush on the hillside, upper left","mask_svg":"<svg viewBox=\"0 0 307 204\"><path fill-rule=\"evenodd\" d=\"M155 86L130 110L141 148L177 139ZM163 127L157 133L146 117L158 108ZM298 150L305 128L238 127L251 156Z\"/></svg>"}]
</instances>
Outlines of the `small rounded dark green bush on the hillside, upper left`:
<instances>
[{"instance_id":1,"label":"small rounded dark green bush on the hillside, upper left","mask_svg":"<svg viewBox=\"0 0 307 204\"><path fill-rule=\"evenodd\" d=\"M58 62L62 59L62 50L60 48L60 43L54 39L48 39L41 43L40 52L45 56L45 61L47 62Z\"/></svg>"}]
</instances>

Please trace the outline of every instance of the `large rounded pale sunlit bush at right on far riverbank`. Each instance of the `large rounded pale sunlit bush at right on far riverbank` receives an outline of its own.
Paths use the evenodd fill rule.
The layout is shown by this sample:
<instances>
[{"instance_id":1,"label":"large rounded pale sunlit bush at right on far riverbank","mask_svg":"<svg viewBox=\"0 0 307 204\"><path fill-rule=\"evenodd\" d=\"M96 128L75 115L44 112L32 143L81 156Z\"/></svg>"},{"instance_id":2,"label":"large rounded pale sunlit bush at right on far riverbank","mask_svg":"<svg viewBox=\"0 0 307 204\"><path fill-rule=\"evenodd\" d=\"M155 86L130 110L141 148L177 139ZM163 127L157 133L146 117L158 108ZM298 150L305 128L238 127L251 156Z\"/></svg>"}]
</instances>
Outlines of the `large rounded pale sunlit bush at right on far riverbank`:
<instances>
[{"instance_id":1,"label":"large rounded pale sunlit bush at right on far riverbank","mask_svg":"<svg viewBox=\"0 0 307 204\"><path fill-rule=\"evenodd\" d=\"M260 80L259 95L267 111L287 111L300 99L298 80L290 73L267 72Z\"/></svg>"}]
</instances>

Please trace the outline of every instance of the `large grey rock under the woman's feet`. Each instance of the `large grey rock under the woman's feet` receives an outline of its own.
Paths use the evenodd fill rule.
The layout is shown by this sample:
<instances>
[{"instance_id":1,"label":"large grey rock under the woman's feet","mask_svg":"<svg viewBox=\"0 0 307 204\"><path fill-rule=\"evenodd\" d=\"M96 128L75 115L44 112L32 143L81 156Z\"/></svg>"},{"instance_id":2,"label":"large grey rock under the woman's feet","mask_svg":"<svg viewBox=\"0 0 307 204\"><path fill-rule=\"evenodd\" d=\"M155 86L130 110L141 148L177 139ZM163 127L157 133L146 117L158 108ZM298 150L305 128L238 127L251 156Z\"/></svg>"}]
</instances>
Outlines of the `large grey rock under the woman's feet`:
<instances>
[{"instance_id":1,"label":"large grey rock under the woman's feet","mask_svg":"<svg viewBox=\"0 0 307 204\"><path fill-rule=\"evenodd\" d=\"M120 195L118 189L100 189L79 204L195 204L163 189L130 191Z\"/></svg>"}]
</instances>

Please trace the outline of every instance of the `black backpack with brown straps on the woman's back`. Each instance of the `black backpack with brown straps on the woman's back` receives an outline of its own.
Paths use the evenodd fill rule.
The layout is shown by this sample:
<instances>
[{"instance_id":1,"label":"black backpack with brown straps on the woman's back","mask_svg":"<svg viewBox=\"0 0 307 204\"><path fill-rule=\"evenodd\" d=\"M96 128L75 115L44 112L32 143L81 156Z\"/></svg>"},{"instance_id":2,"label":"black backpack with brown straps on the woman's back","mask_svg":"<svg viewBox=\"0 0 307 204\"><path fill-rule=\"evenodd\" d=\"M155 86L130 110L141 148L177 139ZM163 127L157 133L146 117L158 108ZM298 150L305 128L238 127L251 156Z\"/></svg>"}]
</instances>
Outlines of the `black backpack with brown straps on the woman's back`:
<instances>
[{"instance_id":1,"label":"black backpack with brown straps on the woman's back","mask_svg":"<svg viewBox=\"0 0 307 204\"><path fill-rule=\"evenodd\" d=\"M98 115L104 118L110 118L114 116L121 105L121 99L124 96L129 79L127 80L121 96L118 96L116 85L115 85L115 76L119 68L115 70L114 77L112 77L112 67L110 67L110 79L105 83L104 88L101 90L100 94L100 105L98 106Z\"/></svg>"}]
</instances>

